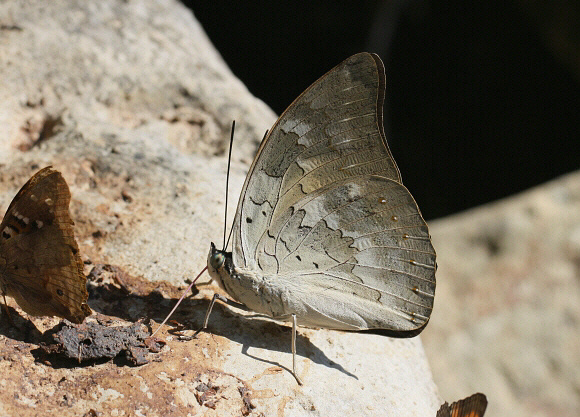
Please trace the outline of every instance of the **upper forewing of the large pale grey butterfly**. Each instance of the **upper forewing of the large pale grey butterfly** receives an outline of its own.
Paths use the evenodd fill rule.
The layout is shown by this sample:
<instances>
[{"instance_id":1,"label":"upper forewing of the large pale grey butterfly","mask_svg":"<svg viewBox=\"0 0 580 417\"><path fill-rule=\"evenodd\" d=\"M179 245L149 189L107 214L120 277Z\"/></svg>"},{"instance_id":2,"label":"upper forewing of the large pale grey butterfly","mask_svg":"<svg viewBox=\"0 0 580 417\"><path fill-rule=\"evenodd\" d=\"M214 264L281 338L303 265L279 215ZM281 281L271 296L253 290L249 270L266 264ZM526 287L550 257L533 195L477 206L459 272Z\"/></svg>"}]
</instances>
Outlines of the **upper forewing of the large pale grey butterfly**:
<instances>
[{"instance_id":1,"label":"upper forewing of the large pale grey butterfly","mask_svg":"<svg viewBox=\"0 0 580 417\"><path fill-rule=\"evenodd\" d=\"M384 90L380 59L361 53L321 77L280 116L241 193L234 264L256 267L258 242L268 228L317 190L372 174L400 182L383 132Z\"/></svg>"}]
</instances>

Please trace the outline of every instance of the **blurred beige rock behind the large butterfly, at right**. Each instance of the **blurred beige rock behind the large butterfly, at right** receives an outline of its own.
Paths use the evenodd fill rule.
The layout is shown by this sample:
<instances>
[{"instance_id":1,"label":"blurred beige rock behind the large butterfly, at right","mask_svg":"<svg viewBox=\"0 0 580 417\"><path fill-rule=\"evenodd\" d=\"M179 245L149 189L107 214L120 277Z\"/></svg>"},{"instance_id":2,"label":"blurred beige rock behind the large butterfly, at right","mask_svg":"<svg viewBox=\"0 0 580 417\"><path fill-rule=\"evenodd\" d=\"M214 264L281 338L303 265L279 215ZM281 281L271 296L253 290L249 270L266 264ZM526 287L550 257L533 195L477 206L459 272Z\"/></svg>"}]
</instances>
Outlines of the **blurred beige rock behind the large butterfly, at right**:
<instances>
[{"instance_id":1,"label":"blurred beige rock behind the large butterfly, at right","mask_svg":"<svg viewBox=\"0 0 580 417\"><path fill-rule=\"evenodd\" d=\"M443 398L578 415L580 172L430 226L439 269L422 337Z\"/></svg>"}]
</instances>

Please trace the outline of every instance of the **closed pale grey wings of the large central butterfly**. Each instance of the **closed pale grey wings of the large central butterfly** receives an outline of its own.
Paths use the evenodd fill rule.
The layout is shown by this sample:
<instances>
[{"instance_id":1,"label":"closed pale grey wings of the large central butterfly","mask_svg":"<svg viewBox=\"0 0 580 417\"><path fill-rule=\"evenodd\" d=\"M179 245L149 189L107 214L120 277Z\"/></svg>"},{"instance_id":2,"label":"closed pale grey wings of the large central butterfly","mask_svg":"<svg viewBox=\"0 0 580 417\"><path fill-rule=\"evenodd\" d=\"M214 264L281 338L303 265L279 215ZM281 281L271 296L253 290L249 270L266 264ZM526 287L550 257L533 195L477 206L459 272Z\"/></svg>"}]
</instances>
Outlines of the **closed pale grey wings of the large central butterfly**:
<instances>
[{"instance_id":1,"label":"closed pale grey wings of the large central butterfly","mask_svg":"<svg viewBox=\"0 0 580 417\"><path fill-rule=\"evenodd\" d=\"M302 325L404 337L431 313L435 251L386 143L384 90L376 55L350 57L282 114L246 178L234 265L275 277Z\"/></svg>"}]
</instances>

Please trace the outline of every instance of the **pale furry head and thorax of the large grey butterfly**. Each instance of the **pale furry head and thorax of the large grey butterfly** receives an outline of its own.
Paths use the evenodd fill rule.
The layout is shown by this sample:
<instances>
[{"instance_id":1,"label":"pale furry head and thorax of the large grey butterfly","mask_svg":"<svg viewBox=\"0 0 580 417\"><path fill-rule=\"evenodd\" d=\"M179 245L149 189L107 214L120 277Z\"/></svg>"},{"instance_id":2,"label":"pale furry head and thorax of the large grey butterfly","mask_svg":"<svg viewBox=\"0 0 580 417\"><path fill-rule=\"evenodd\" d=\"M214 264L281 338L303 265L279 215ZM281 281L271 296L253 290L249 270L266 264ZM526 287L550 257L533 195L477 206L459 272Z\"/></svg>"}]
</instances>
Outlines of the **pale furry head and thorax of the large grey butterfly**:
<instances>
[{"instance_id":1,"label":"pale furry head and thorax of the large grey butterfly","mask_svg":"<svg viewBox=\"0 0 580 417\"><path fill-rule=\"evenodd\" d=\"M289 316L289 312L283 307L282 291L271 285L267 277L236 267L231 252L220 251L212 243L207 267L216 283L250 310L277 319Z\"/></svg>"}]
</instances>

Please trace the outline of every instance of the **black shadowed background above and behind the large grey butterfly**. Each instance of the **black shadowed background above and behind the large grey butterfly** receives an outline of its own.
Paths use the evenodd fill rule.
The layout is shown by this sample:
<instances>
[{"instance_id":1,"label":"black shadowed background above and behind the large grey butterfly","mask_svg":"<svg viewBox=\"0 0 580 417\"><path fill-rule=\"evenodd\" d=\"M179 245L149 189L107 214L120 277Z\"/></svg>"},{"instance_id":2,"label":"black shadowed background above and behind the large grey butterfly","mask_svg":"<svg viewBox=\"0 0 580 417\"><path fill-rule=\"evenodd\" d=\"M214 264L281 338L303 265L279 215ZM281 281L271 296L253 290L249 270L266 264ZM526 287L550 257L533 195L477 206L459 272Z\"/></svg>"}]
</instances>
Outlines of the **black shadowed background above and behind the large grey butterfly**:
<instances>
[{"instance_id":1,"label":"black shadowed background above and behind the large grey butterfly","mask_svg":"<svg viewBox=\"0 0 580 417\"><path fill-rule=\"evenodd\" d=\"M387 139L427 219L580 168L572 1L184 3L278 114L343 59L378 53Z\"/></svg>"}]
</instances>

